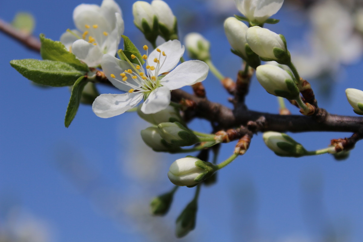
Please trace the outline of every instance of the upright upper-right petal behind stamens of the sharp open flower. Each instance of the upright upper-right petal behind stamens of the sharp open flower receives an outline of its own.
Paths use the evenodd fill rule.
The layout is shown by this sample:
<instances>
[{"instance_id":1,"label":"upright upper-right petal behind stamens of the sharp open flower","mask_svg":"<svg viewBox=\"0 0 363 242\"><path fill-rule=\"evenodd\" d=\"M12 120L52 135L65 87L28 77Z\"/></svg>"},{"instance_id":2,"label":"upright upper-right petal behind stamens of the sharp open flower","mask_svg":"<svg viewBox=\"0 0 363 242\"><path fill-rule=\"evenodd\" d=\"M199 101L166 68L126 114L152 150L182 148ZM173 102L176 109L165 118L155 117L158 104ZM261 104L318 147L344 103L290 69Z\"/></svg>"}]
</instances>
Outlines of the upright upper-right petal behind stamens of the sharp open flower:
<instances>
[{"instance_id":1,"label":"upright upper-right petal behind stamens of the sharp open flower","mask_svg":"<svg viewBox=\"0 0 363 242\"><path fill-rule=\"evenodd\" d=\"M155 67L156 67L156 63L154 62L155 58L157 58L160 61L160 65L163 64L166 58L166 61L164 62L163 66L160 68L160 70L157 73L158 75L172 70L176 65L178 65L180 57L183 56L184 54L184 45L181 46L179 40L169 40L168 42L165 42L164 44L158 46L158 49L160 49L161 52L164 52L166 56L163 56L155 49L151 52L151 54L147 58L148 65Z\"/></svg>"}]
</instances>

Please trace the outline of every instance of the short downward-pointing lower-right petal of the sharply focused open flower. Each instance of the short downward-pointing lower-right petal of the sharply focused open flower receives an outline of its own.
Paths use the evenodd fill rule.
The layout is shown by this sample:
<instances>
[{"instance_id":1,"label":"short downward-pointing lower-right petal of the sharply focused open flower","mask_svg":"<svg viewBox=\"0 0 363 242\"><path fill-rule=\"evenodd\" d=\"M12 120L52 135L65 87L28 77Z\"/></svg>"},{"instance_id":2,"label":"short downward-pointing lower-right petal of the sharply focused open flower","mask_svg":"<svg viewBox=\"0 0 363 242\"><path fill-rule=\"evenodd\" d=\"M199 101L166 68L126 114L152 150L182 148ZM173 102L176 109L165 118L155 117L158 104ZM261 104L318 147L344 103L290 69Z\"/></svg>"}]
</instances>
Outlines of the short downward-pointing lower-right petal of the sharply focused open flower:
<instances>
[{"instance_id":1,"label":"short downward-pointing lower-right petal of the sharply focused open flower","mask_svg":"<svg viewBox=\"0 0 363 242\"><path fill-rule=\"evenodd\" d=\"M152 91L141 107L144 114L155 114L167 108L170 104L170 89L159 87Z\"/></svg>"}]
</instances>

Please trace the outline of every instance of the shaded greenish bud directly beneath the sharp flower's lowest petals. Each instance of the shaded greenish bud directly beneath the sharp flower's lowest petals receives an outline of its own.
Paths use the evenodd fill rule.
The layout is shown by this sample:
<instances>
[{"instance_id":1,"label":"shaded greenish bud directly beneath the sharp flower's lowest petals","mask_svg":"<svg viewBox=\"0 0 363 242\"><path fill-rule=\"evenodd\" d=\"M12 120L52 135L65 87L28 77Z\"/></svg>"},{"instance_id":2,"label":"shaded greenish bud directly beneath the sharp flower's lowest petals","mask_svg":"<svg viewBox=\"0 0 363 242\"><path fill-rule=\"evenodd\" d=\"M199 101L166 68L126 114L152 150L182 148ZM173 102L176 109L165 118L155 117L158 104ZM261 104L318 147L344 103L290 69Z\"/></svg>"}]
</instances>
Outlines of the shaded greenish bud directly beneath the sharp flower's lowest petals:
<instances>
[{"instance_id":1,"label":"shaded greenish bud directly beneath the sharp flower's lowest petals","mask_svg":"<svg viewBox=\"0 0 363 242\"><path fill-rule=\"evenodd\" d=\"M138 106L137 114L140 118L146 120L147 122L158 125L159 123L166 123L166 122L179 122L183 123L183 119L180 117L179 111L177 108L173 106L168 106L164 110L160 112L156 112L155 114L144 114L141 111L142 104Z\"/></svg>"}]
</instances>

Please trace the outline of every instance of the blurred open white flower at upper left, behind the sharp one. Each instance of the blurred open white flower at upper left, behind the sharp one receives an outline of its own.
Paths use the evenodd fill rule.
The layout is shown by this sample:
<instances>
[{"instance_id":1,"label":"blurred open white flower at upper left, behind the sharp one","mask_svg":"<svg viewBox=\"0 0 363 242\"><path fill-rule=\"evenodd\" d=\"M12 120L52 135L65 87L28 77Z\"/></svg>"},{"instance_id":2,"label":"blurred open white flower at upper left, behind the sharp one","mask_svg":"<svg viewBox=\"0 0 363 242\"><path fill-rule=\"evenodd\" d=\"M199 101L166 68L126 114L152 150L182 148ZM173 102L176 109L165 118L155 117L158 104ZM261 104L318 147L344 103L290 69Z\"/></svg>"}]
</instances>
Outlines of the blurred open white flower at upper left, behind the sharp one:
<instances>
[{"instance_id":1,"label":"blurred open white flower at upper left, behind the sharp one","mask_svg":"<svg viewBox=\"0 0 363 242\"><path fill-rule=\"evenodd\" d=\"M115 55L124 30L121 9L114 0L103 0L101 7L80 4L73 11L78 30L67 30L61 42L88 66L98 66L103 54Z\"/></svg>"}]
</instances>

